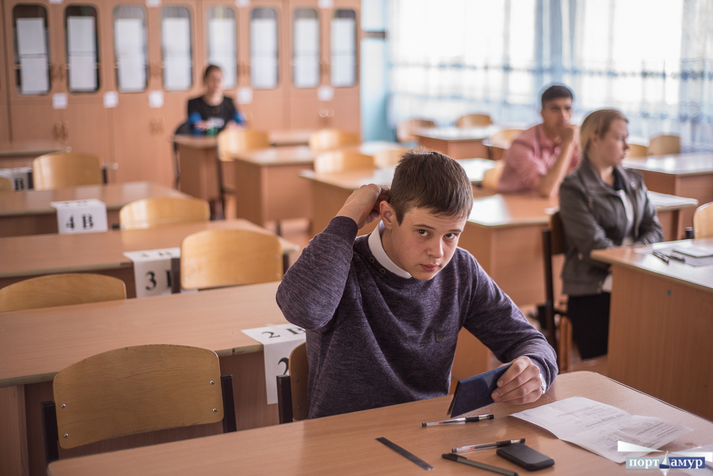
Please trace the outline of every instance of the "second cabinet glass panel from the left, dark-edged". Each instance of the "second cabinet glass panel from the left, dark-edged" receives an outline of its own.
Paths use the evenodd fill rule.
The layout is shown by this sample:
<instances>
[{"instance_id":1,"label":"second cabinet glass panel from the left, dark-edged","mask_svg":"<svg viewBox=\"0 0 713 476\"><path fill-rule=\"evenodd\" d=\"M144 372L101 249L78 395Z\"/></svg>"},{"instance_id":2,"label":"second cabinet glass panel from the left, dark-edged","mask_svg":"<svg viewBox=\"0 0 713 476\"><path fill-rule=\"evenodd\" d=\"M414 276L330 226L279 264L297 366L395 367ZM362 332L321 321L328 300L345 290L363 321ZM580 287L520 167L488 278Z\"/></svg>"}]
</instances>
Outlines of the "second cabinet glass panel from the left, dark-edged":
<instances>
[{"instance_id":1,"label":"second cabinet glass panel from the left, dark-edged","mask_svg":"<svg viewBox=\"0 0 713 476\"><path fill-rule=\"evenodd\" d=\"M93 92L99 88L96 23L93 6L70 5L64 10L67 87L72 92Z\"/></svg>"}]
</instances>

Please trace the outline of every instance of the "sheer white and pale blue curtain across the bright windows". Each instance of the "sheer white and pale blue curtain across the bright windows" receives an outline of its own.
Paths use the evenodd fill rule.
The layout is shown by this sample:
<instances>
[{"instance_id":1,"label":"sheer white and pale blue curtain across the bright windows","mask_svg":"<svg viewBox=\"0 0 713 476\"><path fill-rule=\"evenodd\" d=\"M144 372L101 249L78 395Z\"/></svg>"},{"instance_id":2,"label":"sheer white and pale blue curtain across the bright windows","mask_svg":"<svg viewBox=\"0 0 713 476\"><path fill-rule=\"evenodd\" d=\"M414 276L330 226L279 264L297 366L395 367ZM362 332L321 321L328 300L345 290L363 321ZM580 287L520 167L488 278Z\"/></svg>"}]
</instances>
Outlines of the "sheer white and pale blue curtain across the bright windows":
<instances>
[{"instance_id":1,"label":"sheer white and pale blue curtain across the bright windows","mask_svg":"<svg viewBox=\"0 0 713 476\"><path fill-rule=\"evenodd\" d=\"M575 121L615 107L632 136L713 150L710 0L391 0L389 21L392 125L535 123L541 90L564 83Z\"/></svg>"}]
</instances>

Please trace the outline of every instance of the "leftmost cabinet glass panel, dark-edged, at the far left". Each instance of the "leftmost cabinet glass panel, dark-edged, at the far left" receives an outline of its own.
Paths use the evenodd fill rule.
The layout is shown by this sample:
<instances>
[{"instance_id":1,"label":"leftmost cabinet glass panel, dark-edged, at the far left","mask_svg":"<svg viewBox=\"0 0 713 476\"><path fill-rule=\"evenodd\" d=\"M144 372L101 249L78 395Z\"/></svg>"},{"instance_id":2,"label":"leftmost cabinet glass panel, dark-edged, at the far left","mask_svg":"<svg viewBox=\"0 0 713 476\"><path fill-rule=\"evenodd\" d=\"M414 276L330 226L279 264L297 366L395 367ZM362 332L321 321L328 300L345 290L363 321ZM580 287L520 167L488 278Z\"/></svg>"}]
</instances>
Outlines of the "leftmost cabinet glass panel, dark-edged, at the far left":
<instances>
[{"instance_id":1,"label":"leftmost cabinet glass panel, dark-edged, at the far left","mask_svg":"<svg viewBox=\"0 0 713 476\"><path fill-rule=\"evenodd\" d=\"M17 90L21 94L48 93L51 79L47 9L41 5L16 5L12 9L12 25Z\"/></svg>"}]
</instances>

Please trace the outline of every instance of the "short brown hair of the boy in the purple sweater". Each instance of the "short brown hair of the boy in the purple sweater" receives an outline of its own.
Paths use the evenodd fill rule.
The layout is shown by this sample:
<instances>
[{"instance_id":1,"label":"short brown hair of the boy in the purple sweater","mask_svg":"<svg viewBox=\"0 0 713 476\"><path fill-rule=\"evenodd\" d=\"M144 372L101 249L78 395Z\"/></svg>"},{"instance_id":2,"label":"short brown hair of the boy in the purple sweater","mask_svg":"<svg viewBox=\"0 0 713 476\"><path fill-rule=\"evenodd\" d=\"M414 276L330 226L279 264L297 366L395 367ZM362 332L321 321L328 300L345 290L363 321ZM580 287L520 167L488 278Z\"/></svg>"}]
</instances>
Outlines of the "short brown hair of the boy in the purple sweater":
<instances>
[{"instance_id":1,"label":"short brown hair of the boy in the purple sweater","mask_svg":"<svg viewBox=\"0 0 713 476\"><path fill-rule=\"evenodd\" d=\"M396 165L389 204L401 224L414 207L436 215L468 217L473 208L473 188L458 162L434 150L407 150Z\"/></svg>"}]
</instances>

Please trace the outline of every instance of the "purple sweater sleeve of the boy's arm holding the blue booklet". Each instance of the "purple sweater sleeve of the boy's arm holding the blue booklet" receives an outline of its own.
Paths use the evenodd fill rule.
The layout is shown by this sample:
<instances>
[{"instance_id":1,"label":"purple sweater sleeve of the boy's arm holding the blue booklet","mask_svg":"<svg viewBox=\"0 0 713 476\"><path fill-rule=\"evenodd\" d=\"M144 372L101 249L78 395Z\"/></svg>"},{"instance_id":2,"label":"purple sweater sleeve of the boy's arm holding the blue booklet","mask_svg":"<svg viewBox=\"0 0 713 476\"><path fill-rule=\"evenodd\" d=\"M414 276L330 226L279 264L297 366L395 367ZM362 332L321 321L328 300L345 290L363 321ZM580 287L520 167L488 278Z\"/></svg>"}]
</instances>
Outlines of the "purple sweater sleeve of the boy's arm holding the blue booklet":
<instances>
[{"instance_id":1,"label":"purple sweater sleeve of the boy's arm holding the blue booklet","mask_svg":"<svg viewBox=\"0 0 713 476\"><path fill-rule=\"evenodd\" d=\"M558 373L554 349L475 259L472 264L472 294L463 326L503 363L529 357L549 387Z\"/></svg>"}]
</instances>

